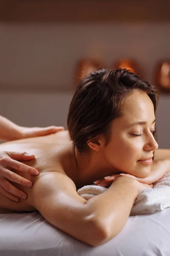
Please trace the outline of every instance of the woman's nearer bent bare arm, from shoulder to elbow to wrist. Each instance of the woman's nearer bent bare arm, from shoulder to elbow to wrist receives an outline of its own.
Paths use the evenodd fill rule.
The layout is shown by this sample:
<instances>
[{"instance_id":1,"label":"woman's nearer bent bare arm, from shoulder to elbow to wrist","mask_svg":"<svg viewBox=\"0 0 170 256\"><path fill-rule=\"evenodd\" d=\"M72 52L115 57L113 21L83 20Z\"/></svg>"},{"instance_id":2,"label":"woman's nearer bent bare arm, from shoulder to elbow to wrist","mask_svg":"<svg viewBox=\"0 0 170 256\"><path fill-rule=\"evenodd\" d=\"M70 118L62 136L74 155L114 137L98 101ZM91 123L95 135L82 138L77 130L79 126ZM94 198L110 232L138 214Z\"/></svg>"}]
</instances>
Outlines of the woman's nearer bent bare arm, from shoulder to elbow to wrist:
<instances>
[{"instance_id":1,"label":"woman's nearer bent bare arm, from shoulder to elbow to wrist","mask_svg":"<svg viewBox=\"0 0 170 256\"><path fill-rule=\"evenodd\" d=\"M77 194L68 176L51 172L39 177L27 200L55 227L91 246L99 246L122 230L139 188L150 187L130 177L119 177L107 191L86 201Z\"/></svg>"}]
</instances>

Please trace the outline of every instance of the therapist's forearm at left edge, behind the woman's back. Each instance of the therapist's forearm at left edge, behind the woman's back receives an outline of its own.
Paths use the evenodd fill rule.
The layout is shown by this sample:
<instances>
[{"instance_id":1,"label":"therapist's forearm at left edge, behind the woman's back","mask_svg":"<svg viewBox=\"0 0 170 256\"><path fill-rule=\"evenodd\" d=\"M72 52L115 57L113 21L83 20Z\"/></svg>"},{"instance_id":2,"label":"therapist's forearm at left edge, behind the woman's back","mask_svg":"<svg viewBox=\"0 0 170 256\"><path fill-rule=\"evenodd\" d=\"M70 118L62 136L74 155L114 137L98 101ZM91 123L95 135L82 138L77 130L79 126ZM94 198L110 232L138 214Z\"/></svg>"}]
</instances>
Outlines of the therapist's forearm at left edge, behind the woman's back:
<instances>
[{"instance_id":1,"label":"therapist's forearm at left edge, behind the woman's back","mask_svg":"<svg viewBox=\"0 0 170 256\"><path fill-rule=\"evenodd\" d=\"M20 126L7 118L0 116L0 140L10 141L20 139Z\"/></svg>"}]
</instances>

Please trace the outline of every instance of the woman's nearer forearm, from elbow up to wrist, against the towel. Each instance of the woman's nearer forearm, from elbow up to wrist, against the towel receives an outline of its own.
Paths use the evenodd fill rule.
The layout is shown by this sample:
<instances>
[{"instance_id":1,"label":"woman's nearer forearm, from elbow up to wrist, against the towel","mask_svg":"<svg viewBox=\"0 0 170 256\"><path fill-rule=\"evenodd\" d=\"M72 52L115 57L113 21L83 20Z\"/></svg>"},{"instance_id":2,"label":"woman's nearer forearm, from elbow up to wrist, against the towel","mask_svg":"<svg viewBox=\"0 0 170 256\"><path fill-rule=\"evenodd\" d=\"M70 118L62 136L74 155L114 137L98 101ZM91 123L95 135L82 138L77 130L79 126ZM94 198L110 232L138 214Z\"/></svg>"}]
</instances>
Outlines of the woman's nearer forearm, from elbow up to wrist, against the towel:
<instances>
[{"instance_id":1,"label":"woman's nearer forearm, from elbow up to wrist, against the towel","mask_svg":"<svg viewBox=\"0 0 170 256\"><path fill-rule=\"evenodd\" d=\"M111 240L125 226L131 208L137 198L138 189L135 180L127 177L117 178L104 193L87 201L105 233L108 234L103 242Z\"/></svg>"}]
</instances>

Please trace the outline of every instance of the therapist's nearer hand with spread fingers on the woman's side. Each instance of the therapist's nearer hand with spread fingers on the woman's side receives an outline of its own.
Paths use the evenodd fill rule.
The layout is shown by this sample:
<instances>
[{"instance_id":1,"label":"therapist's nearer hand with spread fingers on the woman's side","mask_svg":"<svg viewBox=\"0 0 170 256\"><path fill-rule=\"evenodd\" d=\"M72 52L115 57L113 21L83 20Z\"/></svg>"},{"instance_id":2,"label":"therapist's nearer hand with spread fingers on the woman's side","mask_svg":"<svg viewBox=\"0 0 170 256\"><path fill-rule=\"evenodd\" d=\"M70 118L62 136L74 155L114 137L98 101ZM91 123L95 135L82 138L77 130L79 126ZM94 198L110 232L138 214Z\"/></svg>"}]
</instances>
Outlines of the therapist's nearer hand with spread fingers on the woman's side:
<instances>
[{"instance_id":1,"label":"therapist's nearer hand with spread fingers on the woman's side","mask_svg":"<svg viewBox=\"0 0 170 256\"><path fill-rule=\"evenodd\" d=\"M8 180L23 186L28 186L28 184L30 184L29 187L31 187L33 185L31 181L17 175L16 173L12 172L11 169L26 172L30 175L38 175L39 172L33 167L18 162L21 160L32 160L34 157L34 155L27 154L26 152L0 152L0 192L7 198L17 202L20 201L20 197L22 195L25 195L27 198L27 195L24 192L21 192L19 189L12 186Z\"/></svg>"}]
</instances>

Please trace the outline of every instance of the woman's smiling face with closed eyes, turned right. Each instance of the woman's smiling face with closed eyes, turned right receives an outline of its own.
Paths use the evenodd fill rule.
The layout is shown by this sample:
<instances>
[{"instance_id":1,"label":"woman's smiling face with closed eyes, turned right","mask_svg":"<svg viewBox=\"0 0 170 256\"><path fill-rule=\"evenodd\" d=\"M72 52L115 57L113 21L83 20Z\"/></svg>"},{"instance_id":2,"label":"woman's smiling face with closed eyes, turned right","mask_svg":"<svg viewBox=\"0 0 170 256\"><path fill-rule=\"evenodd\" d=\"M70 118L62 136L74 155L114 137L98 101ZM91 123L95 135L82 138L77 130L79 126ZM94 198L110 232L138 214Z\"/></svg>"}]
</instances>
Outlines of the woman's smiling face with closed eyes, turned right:
<instances>
[{"instance_id":1,"label":"woman's smiling face with closed eyes, turned right","mask_svg":"<svg viewBox=\"0 0 170 256\"><path fill-rule=\"evenodd\" d=\"M111 137L104 149L105 159L122 173L147 177L153 152L158 148L154 131L153 103L146 93L135 90L128 96L124 115L111 123Z\"/></svg>"}]
</instances>

